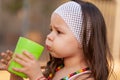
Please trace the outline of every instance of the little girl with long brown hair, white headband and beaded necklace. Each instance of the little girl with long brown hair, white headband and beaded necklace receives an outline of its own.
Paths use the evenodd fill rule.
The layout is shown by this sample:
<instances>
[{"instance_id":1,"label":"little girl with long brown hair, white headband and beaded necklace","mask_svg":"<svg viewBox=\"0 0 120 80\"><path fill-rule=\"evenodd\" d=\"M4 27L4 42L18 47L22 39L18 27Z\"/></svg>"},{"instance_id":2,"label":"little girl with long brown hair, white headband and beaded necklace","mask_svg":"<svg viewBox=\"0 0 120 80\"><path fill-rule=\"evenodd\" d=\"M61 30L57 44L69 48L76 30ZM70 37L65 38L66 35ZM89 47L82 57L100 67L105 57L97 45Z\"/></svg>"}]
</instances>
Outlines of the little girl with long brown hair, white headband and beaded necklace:
<instances>
[{"instance_id":1,"label":"little girl with long brown hair, white headband and beaded necklace","mask_svg":"<svg viewBox=\"0 0 120 80\"><path fill-rule=\"evenodd\" d=\"M25 73L30 80L108 80L112 57L104 18L95 5L81 0L62 4L52 13L50 30L46 38L50 61L45 72L27 51L23 52L26 56L14 58L23 66L13 68L15 71ZM17 78L11 75L12 80Z\"/></svg>"}]
</instances>

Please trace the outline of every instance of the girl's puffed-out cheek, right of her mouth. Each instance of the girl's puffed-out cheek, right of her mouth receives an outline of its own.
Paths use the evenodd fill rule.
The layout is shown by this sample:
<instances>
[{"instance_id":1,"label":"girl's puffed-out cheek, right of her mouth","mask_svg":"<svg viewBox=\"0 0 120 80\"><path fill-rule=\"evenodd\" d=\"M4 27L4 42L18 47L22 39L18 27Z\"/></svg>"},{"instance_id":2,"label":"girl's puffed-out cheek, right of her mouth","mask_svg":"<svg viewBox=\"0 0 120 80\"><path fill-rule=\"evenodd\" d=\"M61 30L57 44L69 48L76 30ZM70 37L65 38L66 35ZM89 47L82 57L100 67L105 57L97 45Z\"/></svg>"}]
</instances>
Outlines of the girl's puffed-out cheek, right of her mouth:
<instances>
[{"instance_id":1,"label":"girl's puffed-out cheek, right of her mouth","mask_svg":"<svg viewBox=\"0 0 120 80\"><path fill-rule=\"evenodd\" d=\"M76 53L76 43L70 40L61 40L54 42L54 53L59 57L67 57Z\"/></svg>"}]
</instances>

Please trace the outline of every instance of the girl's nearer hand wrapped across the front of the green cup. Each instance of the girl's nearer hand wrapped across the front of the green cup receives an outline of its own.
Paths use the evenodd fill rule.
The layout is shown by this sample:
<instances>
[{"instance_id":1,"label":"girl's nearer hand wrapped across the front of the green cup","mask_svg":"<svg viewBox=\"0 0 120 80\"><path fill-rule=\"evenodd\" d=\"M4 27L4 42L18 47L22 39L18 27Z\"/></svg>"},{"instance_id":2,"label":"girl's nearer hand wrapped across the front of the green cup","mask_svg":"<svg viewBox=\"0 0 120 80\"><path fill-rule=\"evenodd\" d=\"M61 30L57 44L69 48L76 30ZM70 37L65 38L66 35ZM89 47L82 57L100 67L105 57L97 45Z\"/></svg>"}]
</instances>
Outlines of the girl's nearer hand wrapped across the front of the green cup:
<instances>
[{"instance_id":1,"label":"girl's nearer hand wrapped across the front of the green cup","mask_svg":"<svg viewBox=\"0 0 120 80\"><path fill-rule=\"evenodd\" d=\"M43 76L39 62L32 54L24 51L23 54L16 54L13 60L23 66L23 68L13 68L13 70L25 73L30 80L36 80L39 76Z\"/></svg>"}]
</instances>

